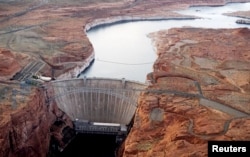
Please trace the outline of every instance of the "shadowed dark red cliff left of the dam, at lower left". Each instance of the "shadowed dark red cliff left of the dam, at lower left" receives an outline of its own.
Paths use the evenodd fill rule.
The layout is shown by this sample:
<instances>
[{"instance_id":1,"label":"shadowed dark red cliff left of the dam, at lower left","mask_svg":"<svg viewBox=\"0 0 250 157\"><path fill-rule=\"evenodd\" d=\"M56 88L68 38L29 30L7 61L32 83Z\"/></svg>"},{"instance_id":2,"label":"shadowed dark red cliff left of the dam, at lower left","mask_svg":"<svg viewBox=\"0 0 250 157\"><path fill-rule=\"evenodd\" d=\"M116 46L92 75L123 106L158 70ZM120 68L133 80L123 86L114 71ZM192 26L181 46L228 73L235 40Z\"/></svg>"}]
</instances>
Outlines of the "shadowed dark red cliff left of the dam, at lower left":
<instances>
[{"instance_id":1,"label":"shadowed dark red cliff left of the dam, at lower left","mask_svg":"<svg viewBox=\"0 0 250 157\"><path fill-rule=\"evenodd\" d=\"M18 93L8 97L5 92L0 104L1 157L44 157L51 139L54 146L64 148L69 141L64 135L72 133L72 123L55 104L45 102L43 90L31 88L29 97Z\"/></svg>"}]
</instances>

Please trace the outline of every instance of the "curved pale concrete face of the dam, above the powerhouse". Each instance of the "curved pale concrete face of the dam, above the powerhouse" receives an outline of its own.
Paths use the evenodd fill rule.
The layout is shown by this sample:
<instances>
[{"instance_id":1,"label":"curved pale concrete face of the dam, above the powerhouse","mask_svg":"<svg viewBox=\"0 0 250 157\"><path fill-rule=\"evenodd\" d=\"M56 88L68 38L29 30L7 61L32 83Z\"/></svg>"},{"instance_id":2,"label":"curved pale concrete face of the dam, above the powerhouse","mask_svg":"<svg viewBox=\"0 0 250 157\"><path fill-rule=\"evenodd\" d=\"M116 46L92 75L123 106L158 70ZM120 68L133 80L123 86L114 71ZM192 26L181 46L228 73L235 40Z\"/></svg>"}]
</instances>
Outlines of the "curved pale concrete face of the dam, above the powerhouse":
<instances>
[{"instance_id":1,"label":"curved pale concrete face of the dam, above the powerhouse","mask_svg":"<svg viewBox=\"0 0 250 157\"><path fill-rule=\"evenodd\" d=\"M77 78L51 82L58 107L72 121L128 125L145 84L125 79Z\"/></svg>"}]
</instances>

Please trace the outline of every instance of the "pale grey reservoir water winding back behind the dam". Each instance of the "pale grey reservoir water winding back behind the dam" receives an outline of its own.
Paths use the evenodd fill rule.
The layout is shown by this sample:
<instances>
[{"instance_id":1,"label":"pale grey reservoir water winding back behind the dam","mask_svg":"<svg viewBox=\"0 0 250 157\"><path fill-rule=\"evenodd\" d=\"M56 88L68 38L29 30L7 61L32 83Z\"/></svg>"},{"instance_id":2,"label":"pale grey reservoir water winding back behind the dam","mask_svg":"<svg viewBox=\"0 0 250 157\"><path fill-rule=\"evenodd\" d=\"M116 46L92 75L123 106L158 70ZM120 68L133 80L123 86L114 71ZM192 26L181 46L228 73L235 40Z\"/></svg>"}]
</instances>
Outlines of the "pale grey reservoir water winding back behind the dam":
<instances>
[{"instance_id":1,"label":"pale grey reservoir water winding back behind the dam","mask_svg":"<svg viewBox=\"0 0 250 157\"><path fill-rule=\"evenodd\" d=\"M162 29L180 27L239 28L249 25L236 24L239 18L223 13L250 10L250 3L230 3L218 7L190 7L177 11L185 15L199 16L195 20L137 21L96 27L87 32L95 50L95 61L80 77L125 78L146 81L153 71L157 58L147 34Z\"/></svg>"}]
</instances>

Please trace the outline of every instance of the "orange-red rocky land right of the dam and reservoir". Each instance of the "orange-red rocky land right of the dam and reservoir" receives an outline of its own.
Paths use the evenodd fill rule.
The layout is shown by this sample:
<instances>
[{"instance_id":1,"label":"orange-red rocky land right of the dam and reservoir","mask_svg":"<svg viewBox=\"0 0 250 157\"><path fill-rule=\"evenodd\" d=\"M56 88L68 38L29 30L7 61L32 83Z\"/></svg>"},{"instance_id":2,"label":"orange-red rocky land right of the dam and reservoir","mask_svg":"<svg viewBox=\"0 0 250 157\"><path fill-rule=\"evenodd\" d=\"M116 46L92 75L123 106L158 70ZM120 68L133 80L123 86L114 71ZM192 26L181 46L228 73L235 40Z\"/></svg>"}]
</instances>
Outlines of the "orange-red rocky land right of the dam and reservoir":
<instances>
[{"instance_id":1,"label":"orange-red rocky land right of the dam and reservoir","mask_svg":"<svg viewBox=\"0 0 250 157\"><path fill-rule=\"evenodd\" d=\"M151 37L159 57L149 89L175 92L142 94L123 156L207 156L208 140L250 140L250 30L183 28ZM248 116L206 107L204 97Z\"/></svg>"}]
</instances>

